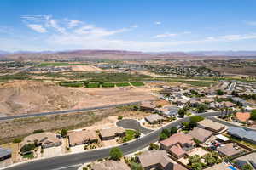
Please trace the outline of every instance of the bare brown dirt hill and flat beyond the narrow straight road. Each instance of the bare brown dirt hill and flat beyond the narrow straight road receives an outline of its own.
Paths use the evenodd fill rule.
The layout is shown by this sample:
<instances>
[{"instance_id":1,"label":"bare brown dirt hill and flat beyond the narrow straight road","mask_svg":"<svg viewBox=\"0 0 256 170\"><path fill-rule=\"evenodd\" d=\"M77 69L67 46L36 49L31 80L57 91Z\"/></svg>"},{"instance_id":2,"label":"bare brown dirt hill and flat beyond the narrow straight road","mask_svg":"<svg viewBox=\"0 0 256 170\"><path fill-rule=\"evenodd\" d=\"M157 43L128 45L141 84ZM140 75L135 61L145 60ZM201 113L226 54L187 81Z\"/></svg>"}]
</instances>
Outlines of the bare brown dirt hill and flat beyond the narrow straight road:
<instances>
[{"instance_id":1,"label":"bare brown dirt hill and flat beyond the narrow straight road","mask_svg":"<svg viewBox=\"0 0 256 170\"><path fill-rule=\"evenodd\" d=\"M54 82L16 81L0 85L0 113L20 115L115 105L155 99L144 88L66 88Z\"/></svg>"}]
</instances>

